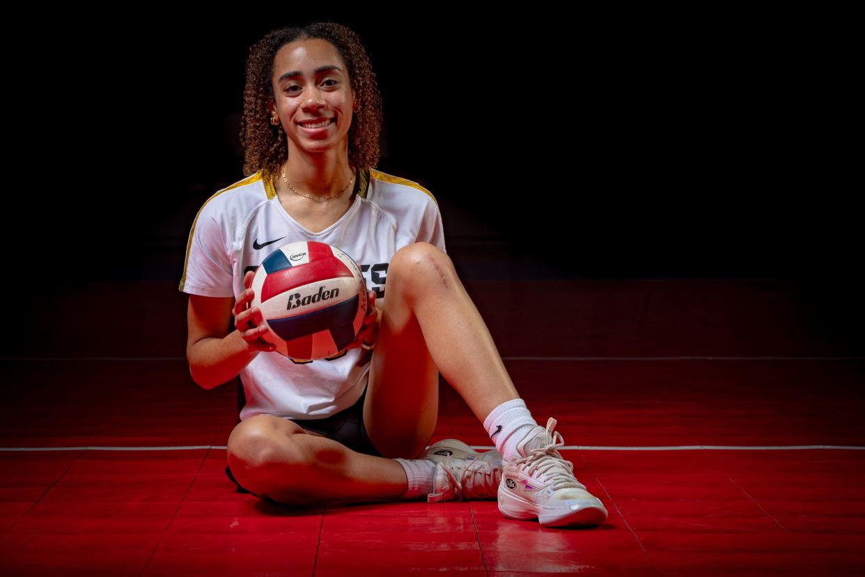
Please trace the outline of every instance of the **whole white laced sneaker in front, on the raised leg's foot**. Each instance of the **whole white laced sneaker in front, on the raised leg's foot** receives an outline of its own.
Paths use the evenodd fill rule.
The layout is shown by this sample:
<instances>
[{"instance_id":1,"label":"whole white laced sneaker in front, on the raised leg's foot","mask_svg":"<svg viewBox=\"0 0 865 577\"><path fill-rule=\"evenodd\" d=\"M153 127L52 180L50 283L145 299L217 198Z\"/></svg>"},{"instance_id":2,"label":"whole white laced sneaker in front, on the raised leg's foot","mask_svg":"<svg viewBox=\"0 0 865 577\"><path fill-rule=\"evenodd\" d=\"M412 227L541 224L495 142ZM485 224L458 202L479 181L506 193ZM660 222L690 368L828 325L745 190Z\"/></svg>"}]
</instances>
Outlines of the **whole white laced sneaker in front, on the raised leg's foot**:
<instances>
[{"instance_id":1,"label":"whole white laced sneaker in front, on the raised leg's foot","mask_svg":"<svg viewBox=\"0 0 865 577\"><path fill-rule=\"evenodd\" d=\"M607 513L598 497L573 476L573 463L555 447L564 446L560 433L535 426L516 446L521 457L505 461L498 488L498 510L510 519L535 519L545 527L598 525Z\"/></svg>"}]
</instances>

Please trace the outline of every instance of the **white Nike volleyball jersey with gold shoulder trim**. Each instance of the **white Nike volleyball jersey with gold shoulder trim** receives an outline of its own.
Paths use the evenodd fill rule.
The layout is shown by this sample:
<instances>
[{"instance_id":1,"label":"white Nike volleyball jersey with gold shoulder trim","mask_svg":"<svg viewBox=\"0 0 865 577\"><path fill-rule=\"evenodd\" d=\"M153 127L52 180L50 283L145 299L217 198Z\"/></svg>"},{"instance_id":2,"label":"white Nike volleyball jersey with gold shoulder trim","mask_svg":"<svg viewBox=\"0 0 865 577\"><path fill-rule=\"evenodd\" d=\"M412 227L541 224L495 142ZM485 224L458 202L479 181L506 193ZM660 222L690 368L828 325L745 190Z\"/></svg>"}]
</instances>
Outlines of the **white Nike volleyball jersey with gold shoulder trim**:
<instances>
[{"instance_id":1,"label":"white Nike volleyball jersey with gold shoulder trim","mask_svg":"<svg viewBox=\"0 0 865 577\"><path fill-rule=\"evenodd\" d=\"M349 254L383 305L396 251L420 241L445 251L441 215L420 184L379 170L360 170L356 191L345 215L313 233L285 211L269 173L259 170L221 189L195 216L180 290L236 299L245 290L244 274L267 255L291 242L317 240ZM298 363L279 353L259 353L240 371L247 396L240 419L256 414L323 419L349 408L366 387L372 354L356 348L330 360Z\"/></svg>"}]
</instances>

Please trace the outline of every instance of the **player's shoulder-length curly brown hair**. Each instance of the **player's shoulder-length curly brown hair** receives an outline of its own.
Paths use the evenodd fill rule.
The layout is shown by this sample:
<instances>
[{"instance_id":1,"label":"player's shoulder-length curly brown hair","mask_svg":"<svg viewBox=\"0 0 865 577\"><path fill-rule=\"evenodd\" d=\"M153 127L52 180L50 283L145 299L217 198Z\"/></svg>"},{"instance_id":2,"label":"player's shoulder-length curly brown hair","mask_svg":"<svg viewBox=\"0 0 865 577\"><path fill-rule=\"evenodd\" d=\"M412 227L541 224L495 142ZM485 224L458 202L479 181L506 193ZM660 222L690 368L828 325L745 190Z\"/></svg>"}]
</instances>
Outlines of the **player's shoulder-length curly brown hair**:
<instances>
[{"instance_id":1,"label":"player's shoulder-length curly brown hair","mask_svg":"<svg viewBox=\"0 0 865 577\"><path fill-rule=\"evenodd\" d=\"M336 22L315 22L303 27L272 30L249 48L243 116L240 119L244 176L259 170L276 172L288 159L288 144L281 123L272 125L269 122L267 103L274 99L271 85L273 60L285 44L311 38L333 44L348 67L349 82L358 103L349 127L349 164L354 169L374 168L378 164L381 93L367 51L353 30Z\"/></svg>"}]
</instances>

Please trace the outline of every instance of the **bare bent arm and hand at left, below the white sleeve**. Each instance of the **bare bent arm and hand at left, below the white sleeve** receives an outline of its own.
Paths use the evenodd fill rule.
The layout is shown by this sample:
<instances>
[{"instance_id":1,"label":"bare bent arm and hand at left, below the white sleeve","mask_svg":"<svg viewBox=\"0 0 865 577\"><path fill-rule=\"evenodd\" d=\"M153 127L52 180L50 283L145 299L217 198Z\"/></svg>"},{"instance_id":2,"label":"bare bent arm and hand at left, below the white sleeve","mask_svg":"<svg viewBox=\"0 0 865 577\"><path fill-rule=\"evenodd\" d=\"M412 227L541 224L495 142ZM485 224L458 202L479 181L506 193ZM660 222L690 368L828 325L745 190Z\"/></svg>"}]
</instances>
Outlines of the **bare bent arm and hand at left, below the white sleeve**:
<instances>
[{"instance_id":1,"label":"bare bent arm and hand at left, below the white sleeve","mask_svg":"<svg viewBox=\"0 0 865 577\"><path fill-rule=\"evenodd\" d=\"M186 358L189 374L202 388L215 388L240 373L261 351L272 351L271 344L259 339L266 332L261 311L248 308L253 291L248 288L253 272L247 272L247 291L234 298L189 295ZM247 282L247 280L249 282ZM228 327L234 315L235 329Z\"/></svg>"}]
</instances>

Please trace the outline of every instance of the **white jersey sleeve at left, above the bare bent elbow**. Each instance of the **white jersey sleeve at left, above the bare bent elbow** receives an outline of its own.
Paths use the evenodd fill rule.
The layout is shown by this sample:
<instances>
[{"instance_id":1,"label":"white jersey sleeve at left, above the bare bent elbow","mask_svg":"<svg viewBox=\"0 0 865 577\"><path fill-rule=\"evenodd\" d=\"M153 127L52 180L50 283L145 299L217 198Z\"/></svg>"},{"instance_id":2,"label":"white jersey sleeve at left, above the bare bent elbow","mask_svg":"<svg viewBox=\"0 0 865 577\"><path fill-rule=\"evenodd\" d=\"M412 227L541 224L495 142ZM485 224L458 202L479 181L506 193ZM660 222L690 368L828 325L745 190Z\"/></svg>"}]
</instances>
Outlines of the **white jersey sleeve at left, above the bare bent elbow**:
<instances>
[{"instance_id":1,"label":"white jersey sleeve at left, above the bare bent elbow","mask_svg":"<svg viewBox=\"0 0 865 577\"><path fill-rule=\"evenodd\" d=\"M205 297L234 297L231 245L216 216L213 203L208 203L195 217L180 290Z\"/></svg>"}]
</instances>

